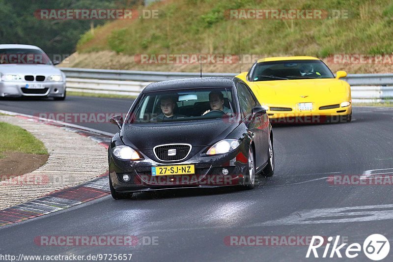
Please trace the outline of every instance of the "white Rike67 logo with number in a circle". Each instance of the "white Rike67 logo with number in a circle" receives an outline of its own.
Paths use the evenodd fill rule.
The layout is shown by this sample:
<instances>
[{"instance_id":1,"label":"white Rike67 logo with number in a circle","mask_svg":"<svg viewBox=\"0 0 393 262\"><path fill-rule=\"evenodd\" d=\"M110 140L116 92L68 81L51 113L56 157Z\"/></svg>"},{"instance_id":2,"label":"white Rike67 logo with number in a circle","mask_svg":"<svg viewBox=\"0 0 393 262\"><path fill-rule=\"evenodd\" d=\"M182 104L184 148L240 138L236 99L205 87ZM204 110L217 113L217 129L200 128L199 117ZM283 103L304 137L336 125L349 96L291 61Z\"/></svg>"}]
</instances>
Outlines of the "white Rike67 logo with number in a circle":
<instances>
[{"instance_id":1,"label":"white Rike67 logo with number in a circle","mask_svg":"<svg viewBox=\"0 0 393 262\"><path fill-rule=\"evenodd\" d=\"M325 249L323 251L323 255L321 258L342 258L341 252L345 254L345 256L349 259L356 258L359 256L359 253L362 251L362 246L359 243L353 243L344 248L347 243L343 243L338 245L338 241L340 236L337 235L336 239L333 236L328 237L328 243L325 245ZM314 258L320 258L321 254L318 254L317 249L323 245L324 238L319 235L314 235L311 238L311 242L309 244L309 249L307 250L306 258L309 258L312 252ZM333 243L334 241L334 243ZM316 244L315 244L316 243ZM329 253L329 248L333 243L332 250ZM372 234L367 236L365 241L363 242L363 252L365 256L373 261L379 261L386 256L388 256L390 250L389 240L381 235L381 234ZM312 256L311 256L312 258Z\"/></svg>"}]
</instances>

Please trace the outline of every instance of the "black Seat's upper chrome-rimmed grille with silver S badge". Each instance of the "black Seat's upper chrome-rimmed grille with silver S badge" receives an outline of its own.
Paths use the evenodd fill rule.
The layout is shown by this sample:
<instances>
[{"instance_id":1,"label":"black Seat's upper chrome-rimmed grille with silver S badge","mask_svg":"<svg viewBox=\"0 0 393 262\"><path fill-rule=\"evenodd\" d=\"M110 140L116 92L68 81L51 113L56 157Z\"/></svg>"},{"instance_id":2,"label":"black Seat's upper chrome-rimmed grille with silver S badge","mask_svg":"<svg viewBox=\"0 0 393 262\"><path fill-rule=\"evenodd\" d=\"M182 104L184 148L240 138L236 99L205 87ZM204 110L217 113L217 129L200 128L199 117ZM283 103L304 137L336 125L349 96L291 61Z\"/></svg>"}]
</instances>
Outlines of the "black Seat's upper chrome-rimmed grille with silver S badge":
<instances>
[{"instance_id":1,"label":"black Seat's upper chrome-rimmed grille with silver S badge","mask_svg":"<svg viewBox=\"0 0 393 262\"><path fill-rule=\"evenodd\" d=\"M191 145L186 144L169 144L162 146L155 146L155 156L161 161L180 161L187 157L191 151ZM174 153L174 155L171 155Z\"/></svg>"}]
</instances>

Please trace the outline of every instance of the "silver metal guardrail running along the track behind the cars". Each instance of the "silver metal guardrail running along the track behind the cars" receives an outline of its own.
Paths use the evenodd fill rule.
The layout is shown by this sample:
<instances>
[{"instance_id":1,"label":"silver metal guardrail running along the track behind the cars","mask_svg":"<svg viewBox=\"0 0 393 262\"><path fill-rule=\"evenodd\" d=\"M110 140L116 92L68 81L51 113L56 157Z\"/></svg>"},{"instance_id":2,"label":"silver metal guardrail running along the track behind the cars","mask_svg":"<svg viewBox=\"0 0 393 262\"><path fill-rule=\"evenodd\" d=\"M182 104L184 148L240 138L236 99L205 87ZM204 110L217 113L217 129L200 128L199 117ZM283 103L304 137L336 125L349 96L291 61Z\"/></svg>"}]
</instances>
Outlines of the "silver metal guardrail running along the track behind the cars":
<instances>
[{"instance_id":1,"label":"silver metal guardrail running along the track behind the cars","mask_svg":"<svg viewBox=\"0 0 393 262\"><path fill-rule=\"evenodd\" d=\"M70 91L138 95L152 82L199 77L199 73L60 68ZM234 77L236 73L203 73L204 77ZM393 74L349 74L353 102L384 102L393 99Z\"/></svg>"}]
</instances>

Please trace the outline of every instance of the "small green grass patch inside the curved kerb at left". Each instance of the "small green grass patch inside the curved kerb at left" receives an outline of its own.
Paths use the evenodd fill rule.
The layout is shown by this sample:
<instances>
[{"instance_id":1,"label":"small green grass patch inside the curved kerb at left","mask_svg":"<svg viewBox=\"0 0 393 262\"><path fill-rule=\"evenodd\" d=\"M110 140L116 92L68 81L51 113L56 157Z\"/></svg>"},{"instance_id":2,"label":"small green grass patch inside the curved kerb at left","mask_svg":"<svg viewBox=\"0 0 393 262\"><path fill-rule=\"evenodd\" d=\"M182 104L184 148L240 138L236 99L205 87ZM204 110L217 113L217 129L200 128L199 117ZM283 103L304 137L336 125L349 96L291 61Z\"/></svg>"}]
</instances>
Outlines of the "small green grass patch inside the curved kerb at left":
<instances>
[{"instance_id":1,"label":"small green grass patch inside the curved kerb at left","mask_svg":"<svg viewBox=\"0 0 393 262\"><path fill-rule=\"evenodd\" d=\"M0 134L0 158L4 157L4 152L48 154L41 141L19 126L0 122Z\"/></svg>"}]
</instances>

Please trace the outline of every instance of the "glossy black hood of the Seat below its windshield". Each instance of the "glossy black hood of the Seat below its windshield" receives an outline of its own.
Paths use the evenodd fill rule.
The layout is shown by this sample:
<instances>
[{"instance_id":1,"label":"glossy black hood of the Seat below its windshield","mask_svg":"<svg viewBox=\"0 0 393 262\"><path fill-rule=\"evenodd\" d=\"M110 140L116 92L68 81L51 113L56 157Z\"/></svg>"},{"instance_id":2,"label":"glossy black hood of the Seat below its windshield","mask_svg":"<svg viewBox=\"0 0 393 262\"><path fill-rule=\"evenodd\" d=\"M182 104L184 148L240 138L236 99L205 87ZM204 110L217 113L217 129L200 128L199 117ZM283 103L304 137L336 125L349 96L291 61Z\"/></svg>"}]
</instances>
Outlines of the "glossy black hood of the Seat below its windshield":
<instances>
[{"instance_id":1,"label":"glossy black hood of the Seat below its windshield","mask_svg":"<svg viewBox=\"0 0 393 262\"><path fill-rule=\"evenodd\" d=\"M126 124L120 132L123 143L136 149L152 149L163 144L207 146L225 139L239 123L190 121L154 124Z\"/></svg>"}]
</instances>

